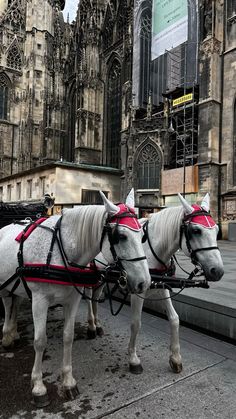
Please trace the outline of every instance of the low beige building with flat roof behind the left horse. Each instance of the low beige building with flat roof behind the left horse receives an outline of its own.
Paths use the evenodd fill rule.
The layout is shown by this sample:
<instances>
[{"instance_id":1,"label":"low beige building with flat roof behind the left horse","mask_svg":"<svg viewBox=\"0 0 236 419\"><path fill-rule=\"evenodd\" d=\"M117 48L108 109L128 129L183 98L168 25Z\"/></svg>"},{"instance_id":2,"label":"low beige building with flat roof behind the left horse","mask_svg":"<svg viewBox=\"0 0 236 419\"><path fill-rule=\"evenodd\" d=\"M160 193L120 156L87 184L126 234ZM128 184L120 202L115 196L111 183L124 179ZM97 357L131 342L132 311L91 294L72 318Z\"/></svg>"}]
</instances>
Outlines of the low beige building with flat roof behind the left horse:
<instances>
[{"instance_id":1,"label":"low beige building with flat roof behind the left horse","mask_svg":"<svg viewBox=\"0 0 236 419\"><path fill-rule=\"evenodd\" d=\"M119 202L120 175L116 169L51 163L5 178L1 182L0 198L3 202L31 202L49 193L55 197L55 205L71 206L82 202L84 189L105 191L109 199Z\"/></svg>"}]
</instances>

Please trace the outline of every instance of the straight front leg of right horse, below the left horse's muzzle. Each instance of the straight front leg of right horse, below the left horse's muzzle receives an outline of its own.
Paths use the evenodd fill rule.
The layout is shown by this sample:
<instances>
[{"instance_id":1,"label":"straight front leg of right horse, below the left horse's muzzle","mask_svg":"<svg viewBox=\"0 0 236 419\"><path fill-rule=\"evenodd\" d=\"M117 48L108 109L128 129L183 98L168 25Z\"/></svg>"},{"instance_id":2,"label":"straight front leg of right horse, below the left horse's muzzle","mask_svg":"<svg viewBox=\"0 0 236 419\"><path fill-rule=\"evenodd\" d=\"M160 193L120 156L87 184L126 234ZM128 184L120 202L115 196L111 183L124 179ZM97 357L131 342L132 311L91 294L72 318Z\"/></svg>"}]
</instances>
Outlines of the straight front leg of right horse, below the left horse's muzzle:
<instances>
[{"instance_id":1,"label":"straight front leg of right horse, below the left horse's muzzle","mask_svg":"<svg viewBox=\"0 0 236 419\"><path fill-rule=\"evenodd\" d=\"M129 370L133 374L141 374L143 367L136 353L136 338L141 328L141 315L143 308L143 298L145 294L131 295L131 335L129 341Z\"/></svg>"}]
</instances>

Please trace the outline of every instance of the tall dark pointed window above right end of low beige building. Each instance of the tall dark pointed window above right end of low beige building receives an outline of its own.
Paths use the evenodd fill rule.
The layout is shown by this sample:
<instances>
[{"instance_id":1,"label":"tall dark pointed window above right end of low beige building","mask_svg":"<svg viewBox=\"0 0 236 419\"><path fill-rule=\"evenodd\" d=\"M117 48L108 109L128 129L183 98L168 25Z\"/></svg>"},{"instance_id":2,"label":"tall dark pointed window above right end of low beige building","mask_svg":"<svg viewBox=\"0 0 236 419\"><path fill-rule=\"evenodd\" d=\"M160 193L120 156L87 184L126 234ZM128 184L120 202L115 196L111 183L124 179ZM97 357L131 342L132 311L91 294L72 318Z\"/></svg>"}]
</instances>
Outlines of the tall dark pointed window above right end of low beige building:
<instances>
[{"instance_id":1,"label":"tall dark pointed window above right end of low beige building","mask_svg":"<svg viewBox=\"0 0 236 419\"><path fill-rule=\"evenodd\" d=\"M121 65L114 59L108 73L107 92L107 164L120 167L121 138Z\"/></svg>"}]
</instances>

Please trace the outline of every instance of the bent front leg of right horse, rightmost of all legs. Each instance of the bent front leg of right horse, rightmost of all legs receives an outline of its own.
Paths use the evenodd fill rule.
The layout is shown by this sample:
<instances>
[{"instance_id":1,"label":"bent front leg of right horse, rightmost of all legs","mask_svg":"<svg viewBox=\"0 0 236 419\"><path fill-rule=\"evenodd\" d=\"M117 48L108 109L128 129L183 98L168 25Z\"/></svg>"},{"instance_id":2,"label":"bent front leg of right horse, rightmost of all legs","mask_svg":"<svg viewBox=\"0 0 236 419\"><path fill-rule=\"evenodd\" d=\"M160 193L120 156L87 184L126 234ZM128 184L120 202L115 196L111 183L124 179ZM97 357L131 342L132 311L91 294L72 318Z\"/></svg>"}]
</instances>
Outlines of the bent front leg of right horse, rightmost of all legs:
<instances>
[{"instance_id":1,"label":"bent front leg of right horse, rightmost of all legs","mask_svg":"<svg viewBox=\"0 0 236 419\"><path fill-rule=\"evenodd\" d=\"M163 298L166 298L162 301L163 308L167 314L169 324L170 324L170 358L169 363L171 369L179 373L182 371L182 359L180 355L180 343L179 343L179 316L176 313L172 301L169 298L170 293L168 290L161 292Z\"/></svg>"}]
</instances>

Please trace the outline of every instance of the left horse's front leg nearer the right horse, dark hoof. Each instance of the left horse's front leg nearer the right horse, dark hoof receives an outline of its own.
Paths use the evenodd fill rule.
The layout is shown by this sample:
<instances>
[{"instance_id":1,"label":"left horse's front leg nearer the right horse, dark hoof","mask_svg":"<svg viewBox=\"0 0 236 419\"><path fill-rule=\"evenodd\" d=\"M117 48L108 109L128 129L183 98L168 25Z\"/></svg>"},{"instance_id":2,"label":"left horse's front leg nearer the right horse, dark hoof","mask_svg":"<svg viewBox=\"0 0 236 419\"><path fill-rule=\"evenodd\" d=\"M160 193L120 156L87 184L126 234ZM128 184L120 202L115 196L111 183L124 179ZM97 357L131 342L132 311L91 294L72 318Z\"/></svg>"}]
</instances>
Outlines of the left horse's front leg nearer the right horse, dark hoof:
<instances>
[{"instance_id":1,"label":"left horse's front leg nearer the right horse, dark hoof","mask_svg":"<svg viewBox=\"0 0 236 419\"><path fill-rule=\"evenodd\" d=\"M74 399L79 391L72 375L72 344L74 340L75 317L81 296L74 292L68 304L64 304L65 323L63 330L62 387L68 399Z\"/></svg>"}]
</instances>

